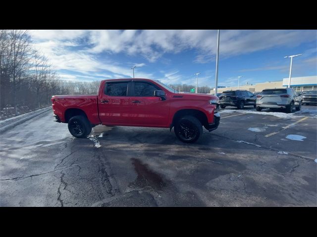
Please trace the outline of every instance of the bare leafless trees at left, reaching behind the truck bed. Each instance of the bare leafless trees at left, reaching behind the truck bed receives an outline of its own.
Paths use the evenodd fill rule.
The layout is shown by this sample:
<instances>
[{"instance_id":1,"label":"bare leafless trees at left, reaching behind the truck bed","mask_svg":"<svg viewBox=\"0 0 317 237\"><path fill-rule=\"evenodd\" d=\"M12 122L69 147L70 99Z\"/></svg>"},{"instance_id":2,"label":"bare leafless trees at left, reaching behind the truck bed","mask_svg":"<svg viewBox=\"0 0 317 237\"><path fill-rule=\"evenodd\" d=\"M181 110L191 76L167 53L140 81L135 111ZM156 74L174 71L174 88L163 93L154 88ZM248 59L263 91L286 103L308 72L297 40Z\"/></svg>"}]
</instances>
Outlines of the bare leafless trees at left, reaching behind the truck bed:
<instances>
[{"instance_id":1,"label":"bare leafless trees at left, reaching behind the truck bed","mask_svg":"<svg viewBox=\"0 0 317 237\"><path fill-rule=\"evenodd\" d=\"M100 81L70 82L59 79L45 55L32 46L26 30L0 30L0 110L41 108L52 95L97 94Z\"/></svg>"}]
</instances>

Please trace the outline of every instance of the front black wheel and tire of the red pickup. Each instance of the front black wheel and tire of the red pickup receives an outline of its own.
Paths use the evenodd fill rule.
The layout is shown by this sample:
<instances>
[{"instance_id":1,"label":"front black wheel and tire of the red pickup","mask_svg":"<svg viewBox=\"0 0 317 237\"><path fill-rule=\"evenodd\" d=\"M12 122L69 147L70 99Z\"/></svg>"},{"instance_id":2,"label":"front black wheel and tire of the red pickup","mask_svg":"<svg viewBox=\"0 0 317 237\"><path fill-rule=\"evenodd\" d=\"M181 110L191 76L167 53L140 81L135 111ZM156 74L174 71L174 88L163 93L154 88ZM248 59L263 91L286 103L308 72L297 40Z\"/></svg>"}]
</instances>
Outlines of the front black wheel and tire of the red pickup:
<instances>
[{"instance_id":1,"label":"front black wheel and tire of the red pickup","mask_svg":"<svg viewBox=\"0 0 317 237\"><path fill-rule=\"evenodd\" d=\"M197 118L187 115L178 119L174 132L182 142L194 143L203 134L203 125Z\"/></svg>"}]
</instances>

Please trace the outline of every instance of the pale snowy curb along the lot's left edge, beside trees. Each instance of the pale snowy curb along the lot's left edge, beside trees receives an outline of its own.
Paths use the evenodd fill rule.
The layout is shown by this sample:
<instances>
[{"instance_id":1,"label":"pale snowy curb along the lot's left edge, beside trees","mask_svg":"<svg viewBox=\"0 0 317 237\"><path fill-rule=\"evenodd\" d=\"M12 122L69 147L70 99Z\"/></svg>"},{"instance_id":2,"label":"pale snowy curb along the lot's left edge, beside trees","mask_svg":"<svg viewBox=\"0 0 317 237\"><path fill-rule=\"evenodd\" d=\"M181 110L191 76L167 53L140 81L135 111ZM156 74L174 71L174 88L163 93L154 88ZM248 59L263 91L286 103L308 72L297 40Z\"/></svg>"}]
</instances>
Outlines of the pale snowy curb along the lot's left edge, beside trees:
<instances>
[{"instance_id":1,"label":"pale snowy curb along the lot's left edge, beside trees","mask_svg":"<svg viewBox=\"0 0 317 237\"><path fill-rule=\"evenodd\" d=\"M15 127L16 125L19 125L50 110L52 110L52 106L0 121L0 133L3 133L12 127Z\"/></svg>"}]
</instances>

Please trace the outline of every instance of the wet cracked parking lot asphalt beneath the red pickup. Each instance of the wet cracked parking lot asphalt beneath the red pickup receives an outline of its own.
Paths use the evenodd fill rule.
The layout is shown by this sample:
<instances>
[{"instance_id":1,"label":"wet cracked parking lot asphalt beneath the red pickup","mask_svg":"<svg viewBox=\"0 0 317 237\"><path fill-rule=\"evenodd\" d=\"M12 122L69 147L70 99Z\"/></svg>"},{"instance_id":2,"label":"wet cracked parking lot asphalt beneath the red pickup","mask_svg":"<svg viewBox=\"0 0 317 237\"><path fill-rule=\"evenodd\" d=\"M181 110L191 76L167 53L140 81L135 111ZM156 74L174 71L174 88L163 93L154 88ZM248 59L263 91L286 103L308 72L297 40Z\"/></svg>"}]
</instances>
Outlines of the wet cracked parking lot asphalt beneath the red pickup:
<instances>
[{"instance_id":1,"label":"wet cracked parking lot asphalt beneath the red pickup","mask_svg":"<svg viewBox=\"0 0 317 237\"><path fill-rule=\"evenodd\" d=\"M101 125L76 139L50 111L1 134L0 206L317 206L316 109L227 107L195 144Z\"/></svg>"}]
</instances>

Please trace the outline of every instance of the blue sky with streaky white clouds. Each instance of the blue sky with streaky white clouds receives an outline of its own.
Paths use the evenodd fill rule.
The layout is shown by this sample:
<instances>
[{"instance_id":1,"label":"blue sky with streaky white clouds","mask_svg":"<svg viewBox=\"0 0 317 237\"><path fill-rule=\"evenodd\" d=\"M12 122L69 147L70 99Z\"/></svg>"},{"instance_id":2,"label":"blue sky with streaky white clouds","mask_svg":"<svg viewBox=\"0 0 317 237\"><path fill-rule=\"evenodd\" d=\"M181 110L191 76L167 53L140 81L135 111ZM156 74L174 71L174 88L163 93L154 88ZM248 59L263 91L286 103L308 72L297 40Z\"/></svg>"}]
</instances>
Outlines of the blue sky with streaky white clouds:
<instances>
[{"instance_id":1,"label":"blue sky with streaky white clouds","mask_svg":"<svg viewBox=\"0 0 317 237\"><path fill-rule=\"evenodd\" d=\"M217 30L30 30L62 80L135 78L214 87ZM220 30L219 86L317 75L316 30Z\"/></svg>"}]
</instances>

